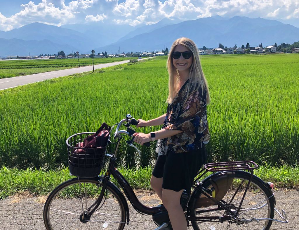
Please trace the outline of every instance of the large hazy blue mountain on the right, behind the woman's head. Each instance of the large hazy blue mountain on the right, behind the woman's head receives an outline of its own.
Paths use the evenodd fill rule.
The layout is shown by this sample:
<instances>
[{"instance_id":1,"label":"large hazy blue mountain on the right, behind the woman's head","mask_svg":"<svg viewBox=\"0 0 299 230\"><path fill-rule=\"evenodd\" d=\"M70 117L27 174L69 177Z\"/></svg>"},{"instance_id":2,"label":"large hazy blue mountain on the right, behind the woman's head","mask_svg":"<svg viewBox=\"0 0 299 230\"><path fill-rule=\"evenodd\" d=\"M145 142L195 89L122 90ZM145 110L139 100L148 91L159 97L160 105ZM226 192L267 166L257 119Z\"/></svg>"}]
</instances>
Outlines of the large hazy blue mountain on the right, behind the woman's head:
<instances>
[{"instance_id":1,"label":"large hazy blue mountain on the right, behind the woman's head","mask_svg":"<svg viewBox=\"0 0 299 230\"><path fill-rule=\"evenodd\" d=\"M218 47L219 43L232 47L246 45L251 46L273 45L293 43L298 40L299 28L285 25L276 20L262 18L251 19L235 16L224 19L220 16L184 21L174 25L167 25L151 31L136 35L133 38L119 40L108 46L94 47L95 50L116 52L117 47L123 47L124 52L152 51L171 47L174 40L179 37L192 39L198 47Z\"/></svg>"}]
</instances>

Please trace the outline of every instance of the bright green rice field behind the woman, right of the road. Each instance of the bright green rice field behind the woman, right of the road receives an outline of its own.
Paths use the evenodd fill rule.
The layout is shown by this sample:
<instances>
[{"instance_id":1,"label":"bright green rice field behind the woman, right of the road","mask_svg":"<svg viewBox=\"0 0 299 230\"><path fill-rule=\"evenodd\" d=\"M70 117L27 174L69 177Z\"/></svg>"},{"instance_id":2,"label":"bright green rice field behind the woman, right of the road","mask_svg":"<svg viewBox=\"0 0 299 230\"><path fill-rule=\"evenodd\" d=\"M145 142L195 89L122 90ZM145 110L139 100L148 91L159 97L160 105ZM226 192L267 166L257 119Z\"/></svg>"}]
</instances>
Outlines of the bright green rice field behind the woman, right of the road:
<instances>
[{"instance_id":1,"label":"bright green rice field behind the woman, right of the road","mask_svg":"<svg viewBox=\"0 0 299 230\"><path fill-rule=\"evenodd\" d=\"M299 55L200 58L211 96L209 161L298 164ZM67 165L65 140L72 134L96 131L102 122L113 125L127 113L144 120L164 114L166 60L155 57L1 91L0 166L61 167ZM155 145L137 146L141 157L123 143L118 164L151 165Z\"/></svg>"}]
</instances>

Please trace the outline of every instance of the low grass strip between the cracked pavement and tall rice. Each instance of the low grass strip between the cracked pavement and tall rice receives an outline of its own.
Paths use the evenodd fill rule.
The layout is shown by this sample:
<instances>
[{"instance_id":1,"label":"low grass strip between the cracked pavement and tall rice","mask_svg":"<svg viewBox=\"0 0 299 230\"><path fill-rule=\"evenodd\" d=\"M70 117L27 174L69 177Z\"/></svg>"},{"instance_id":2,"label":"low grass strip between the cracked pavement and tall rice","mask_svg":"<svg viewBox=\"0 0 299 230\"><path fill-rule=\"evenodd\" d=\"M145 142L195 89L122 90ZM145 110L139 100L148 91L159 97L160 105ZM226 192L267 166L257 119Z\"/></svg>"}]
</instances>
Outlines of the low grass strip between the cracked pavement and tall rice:
<instances>
[{"instance_id":1,"label":"low grass strip between the cracked pavement and tall rice","mask_svg":"<svg viewBox=\"0 0 299 230\"><path fill-rule=\"evenodd\" d=\"M118 168L121 174L133 189L150 190L149 179L152 169L150 167L136 169ZM254 174L264 181L274 183L274 188L299 189L299 167L274 167L261 166ZM60 170L0 168L0 199L13 196L20 192L28 192L33 195L46 196L55 187L73 176L69 175L68 168ZM112 182L117 184L112 178ZM117 184L118 186L118 184Z\"/></svg>"}]
</instances>

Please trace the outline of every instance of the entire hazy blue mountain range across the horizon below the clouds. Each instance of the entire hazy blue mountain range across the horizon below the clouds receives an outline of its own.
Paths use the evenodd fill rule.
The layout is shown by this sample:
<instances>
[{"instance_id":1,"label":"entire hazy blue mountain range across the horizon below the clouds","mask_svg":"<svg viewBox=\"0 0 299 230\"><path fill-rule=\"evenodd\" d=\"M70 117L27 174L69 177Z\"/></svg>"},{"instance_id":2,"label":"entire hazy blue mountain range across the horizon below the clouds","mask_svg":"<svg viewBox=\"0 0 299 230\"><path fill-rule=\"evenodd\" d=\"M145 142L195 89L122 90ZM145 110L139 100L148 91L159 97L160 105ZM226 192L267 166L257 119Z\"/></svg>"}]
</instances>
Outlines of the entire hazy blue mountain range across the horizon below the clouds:
<instances>
[{"instance_id":1,"label":"entire hazy blue mountain range across the horizon below the clouds","mask_svg":"<svg viewBox=\"0 0 299 230\"><path fill-rule=\"evenodd\" d=\"M0 31L0 56L28 56L41 53L66 54L79 51L90 53L151 52L170 48L179 37L192 39L198 47L227 47L246 45L264 46L275 42L294 43L299 38L299 28L276 20L234 16L212 16L181 21L164 18L151 25L117 25L93 22L66 24L60 27L31 23L11 31ZM120 50L120 51L119 51Z\"/></svg>"}]
</instances>

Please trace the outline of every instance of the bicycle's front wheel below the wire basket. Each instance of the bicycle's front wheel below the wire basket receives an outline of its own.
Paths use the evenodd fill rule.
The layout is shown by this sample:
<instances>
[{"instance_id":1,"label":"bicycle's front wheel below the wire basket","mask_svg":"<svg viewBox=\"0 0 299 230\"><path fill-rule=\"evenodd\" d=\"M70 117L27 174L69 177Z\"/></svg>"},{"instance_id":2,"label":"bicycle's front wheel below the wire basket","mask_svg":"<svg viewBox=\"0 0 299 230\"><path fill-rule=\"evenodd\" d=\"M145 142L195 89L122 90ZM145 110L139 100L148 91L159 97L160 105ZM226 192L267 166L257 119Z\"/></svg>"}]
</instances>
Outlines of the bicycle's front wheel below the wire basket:
<instances>
[{"instance_id":1,"label":"bicycle's front wheel below the wire basket","mask_svg":"<svg viewBox=\"0 0 299 230\"><path fill-rule=\"evenodd\" d=\"M126 211L121 197L107 183L103 200L89 220L82 214L97 200L102 185L97 179L74 178L60 184L49 195L44 207L47 230L111 229L122 230Z\"/></svg>"}]
</instances>

